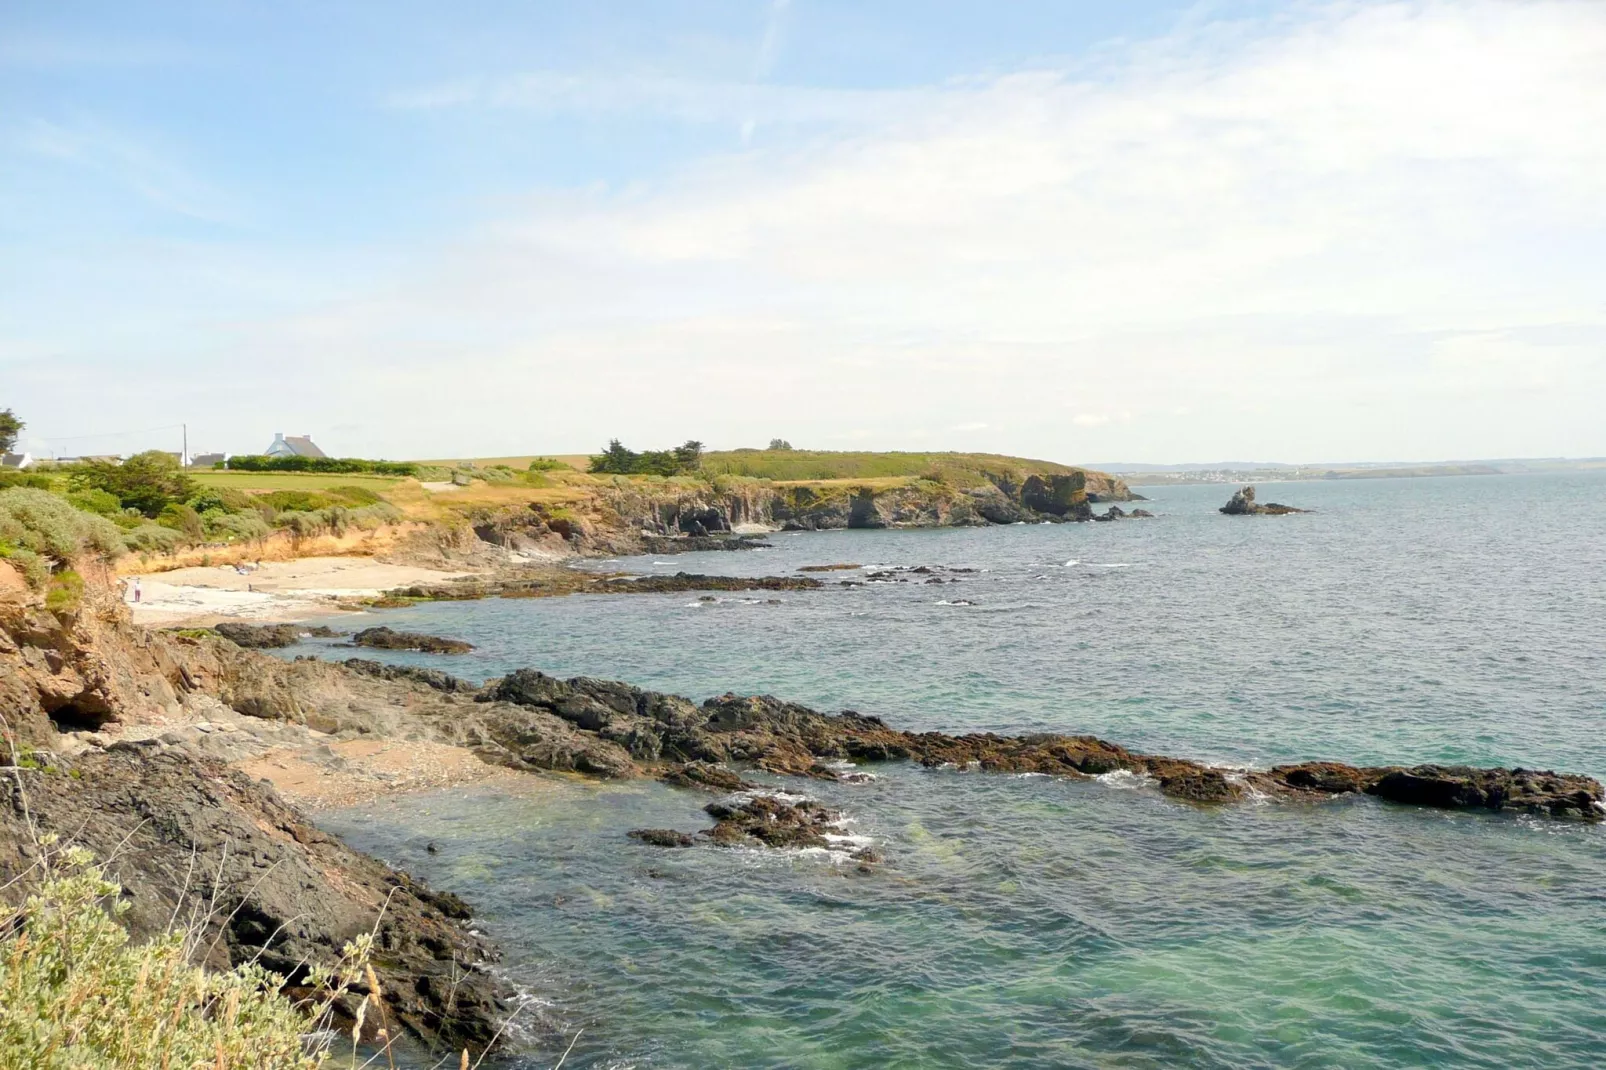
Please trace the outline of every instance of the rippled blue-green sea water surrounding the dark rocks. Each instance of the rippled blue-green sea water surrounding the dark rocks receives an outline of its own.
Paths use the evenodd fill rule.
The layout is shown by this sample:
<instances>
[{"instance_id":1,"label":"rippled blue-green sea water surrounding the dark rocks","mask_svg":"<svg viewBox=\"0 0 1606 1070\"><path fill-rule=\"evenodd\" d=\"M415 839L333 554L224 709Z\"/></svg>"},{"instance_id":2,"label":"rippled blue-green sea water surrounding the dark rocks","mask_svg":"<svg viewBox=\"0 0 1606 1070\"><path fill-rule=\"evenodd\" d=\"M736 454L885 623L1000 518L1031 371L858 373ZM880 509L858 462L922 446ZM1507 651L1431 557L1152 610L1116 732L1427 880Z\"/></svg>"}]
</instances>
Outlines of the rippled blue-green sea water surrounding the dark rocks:
<instances>
[{"instance_id":1,"label":"rippled blue-green sea water surrounding the dark rocks","mask_svg":"<svg viewBox=\"0 0 1606 1070\"><path fill-rule=\"evenodd\" d=\"M909 728L1094 731L1222 762L1606 774L1606 479L1262 488L1319 509L1296 517L1221 517L1225 496L1166 488L1142 522L784 535L620 562L986 569L960 585L385 620L477 643L427 659L467 676L769 691ZM941 604L959 599L975 604ZM631 827L708 824L700 797L657 784L458 790L326 824L475 903L564 1033L525 1038L519 1065L551 1065L580 1028L567 1067L1606 1062L1601 826L877 773L803 786L887 855L874 874L638 847Z\"/></svg>"}]
</instances>

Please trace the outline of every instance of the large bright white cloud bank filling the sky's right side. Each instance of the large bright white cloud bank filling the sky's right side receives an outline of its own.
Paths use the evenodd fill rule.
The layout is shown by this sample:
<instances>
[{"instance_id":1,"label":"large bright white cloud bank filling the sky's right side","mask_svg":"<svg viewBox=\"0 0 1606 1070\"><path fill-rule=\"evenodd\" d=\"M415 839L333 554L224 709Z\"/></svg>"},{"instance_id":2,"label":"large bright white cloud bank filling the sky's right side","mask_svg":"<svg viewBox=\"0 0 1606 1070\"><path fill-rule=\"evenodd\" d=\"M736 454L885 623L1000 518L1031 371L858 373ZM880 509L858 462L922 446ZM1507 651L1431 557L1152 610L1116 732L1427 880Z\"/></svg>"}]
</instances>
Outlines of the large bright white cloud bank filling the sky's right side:
<instances>
[{"instance_id":1,"label":"large bright white cloud bank filling the sky's right side","mask_svg":"<svg viewBox=\"0 0 1606 1070\"><path fill-rule=\"evenodd\" d=\"M387 411L427 394L429 440L376 448L761 443L781 411L800 447L1063 459L1606 451L1606 5L1299 8L887 92L536 72L392 103L792 133L532 193L366 300L241 328ZM498 389L458 415L448 360Z\"/></svg>"}]
</instances>

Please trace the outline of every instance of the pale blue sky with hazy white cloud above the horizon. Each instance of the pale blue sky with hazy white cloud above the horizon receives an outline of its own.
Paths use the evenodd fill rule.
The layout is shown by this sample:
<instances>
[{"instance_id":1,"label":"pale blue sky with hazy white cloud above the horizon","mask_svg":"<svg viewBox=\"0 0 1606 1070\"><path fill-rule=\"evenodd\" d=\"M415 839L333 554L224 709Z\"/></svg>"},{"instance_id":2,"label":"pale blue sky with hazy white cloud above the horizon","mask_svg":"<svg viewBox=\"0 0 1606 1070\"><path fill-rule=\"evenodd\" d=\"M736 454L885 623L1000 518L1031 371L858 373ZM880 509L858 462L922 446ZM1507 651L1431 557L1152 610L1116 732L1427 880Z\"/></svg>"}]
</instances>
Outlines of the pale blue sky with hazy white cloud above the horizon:
<instances>
[{"instance_id":1,"label":"pale blue sky with hazy white cloud above the horizon","mask_svg":"<svg viewBox=\"0 0 1606 1070\"><path fill-rule=\"evenodd\" d=\"M0 3L42 455L1606 455L1606 2Z\"/></svg>"}]
</instances>

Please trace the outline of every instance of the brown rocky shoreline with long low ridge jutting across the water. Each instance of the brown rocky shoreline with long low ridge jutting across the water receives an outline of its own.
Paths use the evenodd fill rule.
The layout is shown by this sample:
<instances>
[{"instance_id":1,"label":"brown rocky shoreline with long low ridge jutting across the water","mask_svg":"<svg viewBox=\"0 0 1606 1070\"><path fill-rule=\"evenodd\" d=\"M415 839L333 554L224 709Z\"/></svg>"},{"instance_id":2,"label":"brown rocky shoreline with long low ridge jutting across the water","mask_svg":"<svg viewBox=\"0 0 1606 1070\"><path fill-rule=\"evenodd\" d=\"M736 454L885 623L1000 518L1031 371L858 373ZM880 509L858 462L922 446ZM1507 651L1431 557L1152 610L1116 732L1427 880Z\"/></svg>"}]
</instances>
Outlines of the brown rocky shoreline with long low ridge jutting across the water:
<instances>
[{"instance_id":1,"label":"brown rocky shoreline with long low ridge jutting across the water","mask_svg":"<svg viewBox=\"0 0 1606 1070\"><path fill-rule=\"evenodd\" d=\"M480 686L429 668L284 660L218 635L156 633L133 627L109 598L67 614L0 604L0 709L21 755L0 807L0 882L27 872L35 831L55 831L114 861L137 935L199 901L212 919L212 964L263 956L292 977L377 924L376 969L392 1019L446 1046L485 1044L516 1006L485 969L496 953L469 927L469 908L318 832L273 786L241 770L268 774L273 763L263 757L287 755L315 774L347 762L336 745L411 741L519 773L654 776L716 792L711 827L641 831L644 842L673 847L829 843L829 810L776 802L739 770L838 781L856 776L854 763L875 762L1073 779L1126 771L1196 805L1372 795L1606 819L1606 789L1588 776L1333 762L1224 770L1092 736L906 733L870 715L827 715L769 696L697 704L536 670ZM8 895L24 888L16 884Z\"/></svg>"}]
</instances>

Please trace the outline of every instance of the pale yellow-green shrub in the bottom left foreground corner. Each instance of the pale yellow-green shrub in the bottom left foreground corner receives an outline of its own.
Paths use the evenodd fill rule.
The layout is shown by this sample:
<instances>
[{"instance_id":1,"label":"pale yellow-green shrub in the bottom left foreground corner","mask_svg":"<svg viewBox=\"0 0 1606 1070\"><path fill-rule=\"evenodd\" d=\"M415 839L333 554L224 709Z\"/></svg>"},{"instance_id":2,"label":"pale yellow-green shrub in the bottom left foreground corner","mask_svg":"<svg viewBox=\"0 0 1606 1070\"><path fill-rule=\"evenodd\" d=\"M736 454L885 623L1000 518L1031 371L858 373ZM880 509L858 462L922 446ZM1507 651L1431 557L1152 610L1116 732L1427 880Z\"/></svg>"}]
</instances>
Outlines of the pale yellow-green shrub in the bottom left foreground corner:
<instances>
[{"instance_id":1,"label":"pale yellow-green shrub in the bottom left foreground corner","mask_svg":"<svg viewBox=\"0 0 1606 1070\"><path fill-rule=\"evenodd\" d=\"M114 921L128 909L122 888L87 850L53 843L40 837L39 890L0 909L0 1052L40 1070L328 1065L329 1011L365 972L371 937L345 945L334 969L315 967L313 994L292 1001L260 966L193 966L198 932L130 945Z\"/></svg>"}]
</instances>

